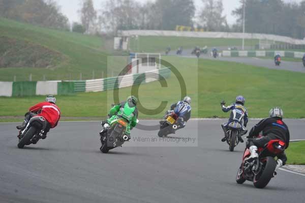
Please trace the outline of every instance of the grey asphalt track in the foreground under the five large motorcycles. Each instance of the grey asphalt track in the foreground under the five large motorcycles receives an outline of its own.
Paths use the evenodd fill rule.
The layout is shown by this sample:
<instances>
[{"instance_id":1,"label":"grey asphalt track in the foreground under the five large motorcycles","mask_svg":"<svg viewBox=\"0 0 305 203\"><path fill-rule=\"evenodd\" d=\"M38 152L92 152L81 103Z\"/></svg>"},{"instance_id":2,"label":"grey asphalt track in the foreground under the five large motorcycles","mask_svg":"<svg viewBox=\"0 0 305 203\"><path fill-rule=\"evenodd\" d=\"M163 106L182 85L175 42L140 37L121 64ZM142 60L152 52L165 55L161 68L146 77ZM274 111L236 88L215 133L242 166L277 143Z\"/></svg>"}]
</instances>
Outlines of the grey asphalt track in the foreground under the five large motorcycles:
<instances>
[{"instance_id":1,"label":"grey asphalt track in the foreground under the five large motorcycles","mask_svg":"<svg viewBox=\"0 0 305 203\"><path fill-rule=\"evenodd\" d=\"M102 154L98 122L62 122L36 146L17 148L14 123L0 124L0 202L303 202L305 177L278 171L265 189L235 182L245 143L220 141L225 120L190 121L174 137L198 147L148 147L129 142ZM257 121L250 121L253 126ZM291 139L305 121L286 120ZM156 125L158 121L141 121ZM199 129L199 131L197 131ZM197 133L199 132L199 133ZM133 137L157 138L134 129ZM133 147L128 147L133 146Z\"/></svg>"}]
</instances>

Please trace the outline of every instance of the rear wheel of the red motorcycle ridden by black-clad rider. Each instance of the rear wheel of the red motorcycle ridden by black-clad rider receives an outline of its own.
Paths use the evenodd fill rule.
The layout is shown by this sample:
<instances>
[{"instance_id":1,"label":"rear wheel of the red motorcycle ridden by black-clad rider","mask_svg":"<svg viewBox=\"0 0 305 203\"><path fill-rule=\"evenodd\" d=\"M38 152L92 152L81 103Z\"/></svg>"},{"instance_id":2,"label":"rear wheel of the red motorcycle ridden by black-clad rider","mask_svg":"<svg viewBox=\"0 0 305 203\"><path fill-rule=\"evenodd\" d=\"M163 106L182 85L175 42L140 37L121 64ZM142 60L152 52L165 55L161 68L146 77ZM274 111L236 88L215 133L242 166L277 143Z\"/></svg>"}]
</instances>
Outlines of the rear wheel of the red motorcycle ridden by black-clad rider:
<instances>
[{"instance_id":1,"label":"rear wheel of the red motorcycle ridden by black-clad rider","mask_svg":"<svg viewBox=\"0 0 305 203\"><path fill-rule=\"evenodd\" d=\"M269 181L273 177L277 162L273 157L266 157L266 163L263 171L254 176L253 184L256 188L264 188L268 185Z\"/></svg>"}]
</instances>

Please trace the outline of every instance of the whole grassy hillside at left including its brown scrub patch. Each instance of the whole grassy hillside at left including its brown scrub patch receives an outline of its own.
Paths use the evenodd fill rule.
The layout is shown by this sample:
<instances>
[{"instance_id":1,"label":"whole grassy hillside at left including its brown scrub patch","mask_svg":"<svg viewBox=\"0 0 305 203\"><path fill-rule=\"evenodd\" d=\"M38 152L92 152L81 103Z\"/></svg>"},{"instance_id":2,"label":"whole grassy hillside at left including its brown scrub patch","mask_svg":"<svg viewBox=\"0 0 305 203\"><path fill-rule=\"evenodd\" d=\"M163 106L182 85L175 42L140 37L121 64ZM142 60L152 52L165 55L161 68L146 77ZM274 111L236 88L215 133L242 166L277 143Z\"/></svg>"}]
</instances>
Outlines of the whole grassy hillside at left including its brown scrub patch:
<instances>
[{"instance_id":1,"label":"whole grassy hillside at left including its brown scrub patch","mask_svg":"<svg viewBox=\"0 0 305 203\"><path fill-rule=\"evenodd\" d=\"M80 73L82 79L91 79L93 70L96 77L102 77L103 73L105 75L107 54L101 48L104 44L101 37L51 30L0 18L0 38L5 39L1 43L0 59L10 52L10 61L6 61L6 64L12 64L0 66L0 81L12 81L14 76L17 81L26 81L29 74L32 74L33 80L42 80L44 75L47 80L79 79ZM4 50L4 44L8 49ZM16 48L18 51L14 51ZM33 56L33 52L37 54ZM51 65L35 63L31 57L34 61L39 61L37 58L40 57L47 61L50 57Z\"/></svg>"}]
</instances>

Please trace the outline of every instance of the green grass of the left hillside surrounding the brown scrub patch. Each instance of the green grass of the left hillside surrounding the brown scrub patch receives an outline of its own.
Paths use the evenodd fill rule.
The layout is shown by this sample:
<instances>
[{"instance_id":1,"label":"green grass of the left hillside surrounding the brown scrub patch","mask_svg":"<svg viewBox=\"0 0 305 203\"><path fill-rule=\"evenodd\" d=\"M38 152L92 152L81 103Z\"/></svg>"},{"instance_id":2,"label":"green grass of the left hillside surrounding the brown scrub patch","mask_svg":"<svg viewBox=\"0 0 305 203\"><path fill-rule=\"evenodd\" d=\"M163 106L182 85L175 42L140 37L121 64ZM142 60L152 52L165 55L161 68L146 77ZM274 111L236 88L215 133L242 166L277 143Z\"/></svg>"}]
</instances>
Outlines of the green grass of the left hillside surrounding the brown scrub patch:
<instances>
[{"instance_id":1,"label":"green grass of the left hillside surrounding the brown scrub patch","mask_svg":"<svg viewBox=\"0 0 305 203\"><path fill-rule=\"evenodd\" d=\"M106 76L107 53L101 50L104 41L101 37L51 30L31 24L19 23L0 18L0 36L28 41L61 53L64 60L55 68L1 68L0 81L28 81L32 73L33 81L92 79L93 71L97 78ZM26 53L25 53L26 54Z\"/></svg>"}]
</instances>

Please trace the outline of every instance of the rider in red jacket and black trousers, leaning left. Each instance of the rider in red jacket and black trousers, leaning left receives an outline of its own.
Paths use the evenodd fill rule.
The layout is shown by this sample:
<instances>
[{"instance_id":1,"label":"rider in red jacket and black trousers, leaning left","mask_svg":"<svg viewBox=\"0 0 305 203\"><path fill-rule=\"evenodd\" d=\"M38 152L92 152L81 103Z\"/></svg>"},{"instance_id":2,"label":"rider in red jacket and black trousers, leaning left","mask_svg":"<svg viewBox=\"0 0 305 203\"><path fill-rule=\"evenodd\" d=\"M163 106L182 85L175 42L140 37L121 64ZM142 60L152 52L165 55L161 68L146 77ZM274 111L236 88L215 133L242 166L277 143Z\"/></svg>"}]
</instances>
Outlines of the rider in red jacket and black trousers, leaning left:
<instances>
[{"instance_id":1,"label":"rider in red jacket and black trousers, leaning left","mask_svg":"<svg viewBox=\"0 0 305 203\"><path fill-rule=\"evenodd\" d=\"M48 95L45 102L32 106L24 116L25 119L23 123L16 127L18 130L20 130L20 132L25 129L29 120L31 120L33 117L41 116L45 118L47 121L47 126L42 135L42 139L45 139L47 137L47 133L50 131L50 128L55 128L60 119L60 109L58 106L56 106L56 98L52 95ZM20 134L18 135L18 138L20 139Z\"/></svg>"}]
</instances>

